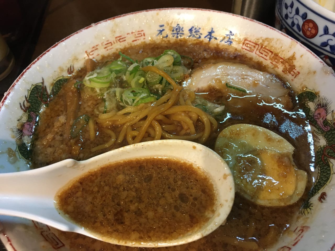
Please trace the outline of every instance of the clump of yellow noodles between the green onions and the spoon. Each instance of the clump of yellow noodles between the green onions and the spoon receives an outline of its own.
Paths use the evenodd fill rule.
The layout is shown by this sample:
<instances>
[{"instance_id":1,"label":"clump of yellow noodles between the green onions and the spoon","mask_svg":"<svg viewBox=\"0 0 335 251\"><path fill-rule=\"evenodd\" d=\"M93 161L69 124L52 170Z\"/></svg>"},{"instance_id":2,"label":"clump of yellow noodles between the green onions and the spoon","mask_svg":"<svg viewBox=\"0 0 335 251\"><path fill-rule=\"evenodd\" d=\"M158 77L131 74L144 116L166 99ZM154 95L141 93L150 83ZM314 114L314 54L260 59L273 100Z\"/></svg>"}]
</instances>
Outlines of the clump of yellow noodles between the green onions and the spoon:
<instances>
[{"instance_id":1,"label":"clump of yellow noodles between the green onions and the spoon","mask_svg":"<svg viewBox=\"0 0 335 251\"><path fill-rule=\"evenodd\" d=\"M99 115L97 122L104 127L116 126L120 132L117 138L118 143L121 143L124 138L129 144L133 144L147 140L158 140L162 136L165 138L199 139L200 143L205 142L211 130L217 127L217 122L207 113L191 105L195 99L194 92L183 89L169 75L156 67L147 66L141 69L145 72L158 73L173 86L173 89L168 90L165 95L153 103L126 107L114 116ZM195 125L198 119L202 121L204 131L197 133ZM175 131L177 135L169 134L166 131Z\"/></svg>"}]
</instances>

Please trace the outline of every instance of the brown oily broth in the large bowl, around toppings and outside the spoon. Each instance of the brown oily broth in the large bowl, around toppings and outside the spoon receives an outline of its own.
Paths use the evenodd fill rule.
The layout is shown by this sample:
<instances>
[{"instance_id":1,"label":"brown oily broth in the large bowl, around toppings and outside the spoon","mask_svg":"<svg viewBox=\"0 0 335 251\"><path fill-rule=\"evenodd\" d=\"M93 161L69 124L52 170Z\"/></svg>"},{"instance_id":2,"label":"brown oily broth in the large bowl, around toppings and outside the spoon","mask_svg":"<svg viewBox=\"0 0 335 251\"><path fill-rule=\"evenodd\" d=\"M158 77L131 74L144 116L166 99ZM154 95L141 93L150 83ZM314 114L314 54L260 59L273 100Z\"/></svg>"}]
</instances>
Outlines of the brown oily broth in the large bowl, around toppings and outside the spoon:
<instances>
[{"instance_id":1,"label":"brown oily broth in the large bowl, around toppings and outside the spoon","mask_svg":"<svg viewBox=\"0 0 335 251\"><path fill-rule=\"evenodd\" d=\"M224 51L221 48L210 48L207 44L189 45L185 41L178 41L173 44L141 44L122 50L123 54L132 59L142 60L146 57L156 57L164 50L176 50L179 54L188 56L194 60L192 68L208 62L233 61L248 64L259 70L262 66L252 63L238 52ZM108 59L116 60L118 54L111 55ZM106 58L107 60L107 58ZM103 60L104 61L104 60ZM102 61L102 62L103 62ZM86 68L83 67L75 80L82 80L86 75ZM70 80L71 81L71 80ZM73 84L72 84L73 85ZM41 114L40 125L37 129L34 141L32 166L39 167L51 164L62 159L74 158L83 160L94 155L124 146L126 139L122 142L115 142L112 146L92 152L93 147L105 144L111 138L107 131L98 123L95 128L98 132L94 140L89 140L88 125L83 128L80 137L69 140L64 131L66 125L66 111L69 106L66 102L66 95L69 88L66 84L54 100L50 102L45 111ZM221 130L237 123L250 123L261 126L284 137L295 148L293 160L299 169L308 172L309 181L305 195L296 203L284 207L265 207L248 201L236 194L232 211L227 218L225 225L220 226L212 234L201 238L198 241L178 247L165 248L167 250L263 250L271 246L280 235L287 231L299 214L299 208L311 188L312 179L310 165L311 142L308 141L308 132L304 129L307 122L299 111L294 93L290 91L289 102L284 105L262 102L259 96L243 96L243 93L236 91L230 95L222 93L219 89L211 86L199 90L201 96L211 102L225 105L221 116L217 117L217 128L210 134L204 145L214 148L215 140ZM91 95L86 89L80 91L79 98L72 100L78 103L76 116L87 114L90 117L97 117L97 107L104 106L103 97ZM70 103L71 104L71 103ZM293 126L292 126L293 125ZM196 125L200 129L201 124ZM111 126L110 128L113 128ZM197 129L197 128L196 128ZM119 132L116 130L116 134ZM297 136L298 135L298 136ZM118 135L116 135L118 136ZM144 181L142 181L144 183ZM194 195L195 196L195 195ZM189 203L192 199L189 200ZM180 212L180 211L179 211ZM143 212L145 214L146 212ZM188 212L189 214L190 212ZM186 214L186 216L188 215ZM185 217L185 216L181 216ZM120 221L121 222L121 221ZM57 235L67 243L71 250L139 250L138 248L120 247L75 233L66 233L55 230ZM137 235L135 233L135 235ZM146 250L146 249L144 249ZM148 249L149 250L149 249Z\"/></svg>"}]
</instances>

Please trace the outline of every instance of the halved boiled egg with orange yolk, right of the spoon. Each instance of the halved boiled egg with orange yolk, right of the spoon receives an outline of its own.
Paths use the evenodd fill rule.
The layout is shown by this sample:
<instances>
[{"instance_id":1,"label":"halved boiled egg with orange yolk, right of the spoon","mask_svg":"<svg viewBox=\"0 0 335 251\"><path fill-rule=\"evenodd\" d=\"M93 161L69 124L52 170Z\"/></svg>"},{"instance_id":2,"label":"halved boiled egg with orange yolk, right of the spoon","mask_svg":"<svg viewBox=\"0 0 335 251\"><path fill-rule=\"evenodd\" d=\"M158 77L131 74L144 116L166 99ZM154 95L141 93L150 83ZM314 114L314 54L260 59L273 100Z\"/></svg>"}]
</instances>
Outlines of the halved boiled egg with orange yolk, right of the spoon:
<instances>
[{"instance_id":1,"label":"halved boiled egg with orange yolk, right of the spoon","mask_svg":"<svg viewBox=\"0 0 335 251\"><path fill-rule=\"evenodd\" d=\"M289 205L305 191L307 173L294 164L294 147L268 129L229 126L219 134L215 151L231 169L236 191L259 205Z\"/></svg>"}]
</instances>

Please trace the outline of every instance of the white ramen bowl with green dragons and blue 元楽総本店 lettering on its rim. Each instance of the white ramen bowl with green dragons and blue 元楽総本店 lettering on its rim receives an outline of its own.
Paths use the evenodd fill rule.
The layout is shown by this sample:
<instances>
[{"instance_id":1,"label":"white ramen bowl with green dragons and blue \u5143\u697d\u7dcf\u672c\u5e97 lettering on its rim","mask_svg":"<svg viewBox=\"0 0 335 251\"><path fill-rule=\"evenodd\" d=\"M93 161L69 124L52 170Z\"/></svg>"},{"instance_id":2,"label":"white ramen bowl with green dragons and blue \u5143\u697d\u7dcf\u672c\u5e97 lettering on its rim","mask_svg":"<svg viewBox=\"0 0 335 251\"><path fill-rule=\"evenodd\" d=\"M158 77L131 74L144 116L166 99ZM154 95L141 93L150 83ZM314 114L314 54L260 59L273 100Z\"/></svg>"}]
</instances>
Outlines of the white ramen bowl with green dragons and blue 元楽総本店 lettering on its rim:
<instances>
[{"instance_id":1,"label":"white ramen bowl with green dragons and blue \u5143\u697d\u7dcf\u672c\u5e97 lettering on its rim","mask_svg":"<svg viewBox=\"0 0 335 251\"><path fill-rule=\"evenodd\" d=\"M177 42L180 49L201 44L203 47L198 51L204 55L210 53L208 48L212 48L216 52L232 55L231 60L240 57L245 61L252 61L289 83L297 95L296 100L300 102L301 111L310 121L312 134L309 142L313 138L314 145L311 144L309 151L314 151L315 154L312 155L308 172L313 186L298 208L294 221L289 226L284 226L285 231L267 250L333 250L335 181L332 175L335 128L334 97L331 93L334 91L334 72L290 36L238 15L188 8L147 10L92 24L64 38L32 62L1 101L0 172L29 169L27 162L32 154L31 145L34 144L33 136L41 112L57 97L69 75L84 66L85 60L90 58L99 61L111 53L126 53L124 48L141 46L143 43L173 45ZM258 116L257 112L255 116ZM260 117L260 120L264 119L266 117ZM289 122L283 123L281 128L294 141L296 135L292 135L292 127L298 128ZM305 129L310 128L307 126ZM296 149L299 147L306 148L296 146ZM15 189L15 184L12 186ZM48 184L45 184L45 189L48 189ZM275 207L271 212L276 217L276 212L280 210L285 211ZM242 208L241 212L244 211L247 212L248 208ZM281 216L278 217L280 219ZM66 239L63 233L36 221L1 216L0 222L0 238L9 250L77 250L73 247L75 245L86 246L87 250L99 250L104 245L81 236ZM240 226L243 225L245 223ZM250 226L251 230L264 228L271 226ZM228 237L226 241L230 242L230 246L240 246L241 250L243 245L257 242L256 237L247 236L247 233L242 235L243 237ZM270 232L268 236L271 237ZM209 241L210 248L219 250L215 240ZM200 239L201 245L206 242L207 239ZM195 242L192 245L188 248L196 249L198 244ZM116 246L108 248L120 249Z\"/></svg>"}]
</instances>

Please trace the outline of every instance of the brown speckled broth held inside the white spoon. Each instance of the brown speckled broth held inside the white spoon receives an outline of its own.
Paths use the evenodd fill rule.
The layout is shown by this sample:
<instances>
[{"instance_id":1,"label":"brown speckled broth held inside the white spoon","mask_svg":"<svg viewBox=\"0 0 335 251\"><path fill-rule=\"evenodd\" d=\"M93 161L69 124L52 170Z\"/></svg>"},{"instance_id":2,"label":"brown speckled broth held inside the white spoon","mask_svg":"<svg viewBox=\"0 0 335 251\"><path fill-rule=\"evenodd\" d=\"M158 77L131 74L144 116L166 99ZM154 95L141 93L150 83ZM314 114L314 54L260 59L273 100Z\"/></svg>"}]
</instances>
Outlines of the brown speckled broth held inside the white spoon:
<instances>
[{"instance_id":1,"label":"brown speckled broth held inside the white spoon","mask_svg":"<svg viewBox=\"0 0 335 251\"><path fill-rule=\"evenodd\" d=\"M109 164L63 188L56 206L103 239L178 239L214 213L213 185L198 168L170 158Z\"/></svg>"}]
</instances>

